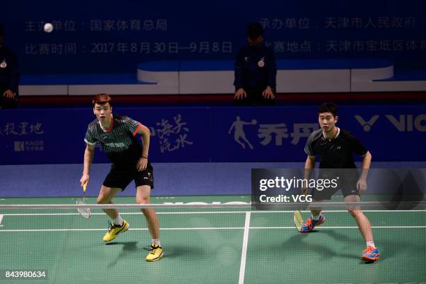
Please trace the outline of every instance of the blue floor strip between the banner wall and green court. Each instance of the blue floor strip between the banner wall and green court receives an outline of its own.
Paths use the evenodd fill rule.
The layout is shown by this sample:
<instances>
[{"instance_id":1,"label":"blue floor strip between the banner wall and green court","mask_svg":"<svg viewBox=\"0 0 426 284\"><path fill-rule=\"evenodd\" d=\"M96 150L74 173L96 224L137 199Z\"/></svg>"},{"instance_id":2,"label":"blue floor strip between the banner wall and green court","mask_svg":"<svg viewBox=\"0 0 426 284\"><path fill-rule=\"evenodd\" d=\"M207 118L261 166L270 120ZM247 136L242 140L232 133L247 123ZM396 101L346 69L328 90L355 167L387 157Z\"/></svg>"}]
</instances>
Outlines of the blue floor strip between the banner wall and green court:
<instances>
[{"instance_id":1,"label":"blue floor strip between the banner wall and green court","mask_svg":"<svg viewBox=\"0 0 426 284\"><path fill-rule=\"evenodd\" d=\"M80 155L81 156L81 155ZM80 157L79 156L79 157ZM251 168L303 168L304 163L154 163L154 196L251 194ZM357 166L361 166L359 163ZM93 164L88 196L97 196L109 164ZM372 168L426 168L426 162L372 162ZM0 198L81 196L82 164L0 166ZM423 170L424 173L424 170ZM371 177L372 175L369 175ZM374 179L373 179L374 180ZM377 180L377 179L376 179ZM395 183L397 184L397 183ZM425 191L425 182L422 191ZM379 187L379 188L382 188ZM387 189L391 192L391 188ZM124 196L134 196L131 182ZM340 193L340 191L339 191ZM366 194L378 194L374 183ZM91 199L93 200L93 199ZM173 200L171 200L173 201Z\"/></svg>"}]
</instances>

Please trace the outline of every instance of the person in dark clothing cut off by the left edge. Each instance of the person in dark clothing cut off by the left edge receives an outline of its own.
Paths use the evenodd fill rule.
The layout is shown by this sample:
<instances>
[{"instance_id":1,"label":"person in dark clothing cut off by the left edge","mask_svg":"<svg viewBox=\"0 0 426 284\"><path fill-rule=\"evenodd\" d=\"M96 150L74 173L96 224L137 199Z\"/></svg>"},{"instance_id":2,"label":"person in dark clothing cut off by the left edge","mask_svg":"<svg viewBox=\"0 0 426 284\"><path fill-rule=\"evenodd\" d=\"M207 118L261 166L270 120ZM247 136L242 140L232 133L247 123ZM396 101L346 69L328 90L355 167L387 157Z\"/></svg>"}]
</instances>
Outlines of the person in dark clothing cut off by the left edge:
<instances>
[{"instance_id":1,"label":"person in dark clothing cut off by the left edge","mask_svg":"<svg viewBox=\"0 0 426 284\"><path fill-rule=\"evenodd\" d=\"M18 102L19 69L15 53L3 45L4 30L0 24L0 109L15 109Z\"/></svg>"}]
</instances>

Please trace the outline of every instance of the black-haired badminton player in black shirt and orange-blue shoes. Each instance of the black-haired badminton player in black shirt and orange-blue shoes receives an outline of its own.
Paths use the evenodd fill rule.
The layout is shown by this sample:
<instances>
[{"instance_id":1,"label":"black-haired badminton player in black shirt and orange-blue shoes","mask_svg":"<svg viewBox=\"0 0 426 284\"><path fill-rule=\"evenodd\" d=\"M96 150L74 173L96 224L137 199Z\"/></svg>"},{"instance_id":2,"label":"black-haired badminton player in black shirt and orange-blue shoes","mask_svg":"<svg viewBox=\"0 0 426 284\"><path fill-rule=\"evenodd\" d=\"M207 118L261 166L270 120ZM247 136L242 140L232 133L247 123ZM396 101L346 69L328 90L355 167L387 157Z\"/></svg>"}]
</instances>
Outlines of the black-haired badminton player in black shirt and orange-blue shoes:
<instances>
[{"instance_id":1,"label":"black-haired badminton player in black shirt and orange-blue shoes","mask_svg":"<svg viewBox=\"0 0 426 284\"><path fill-rule=\"evenodd\" d=\"M328 178L336 178L336 173L340 174L338 187L332 189L313 189L314 202L322 200L330 200L331 196L342 190L346 202L358 202L360 193L367 189L367 171L370 168L371 155L364 145L356 139L356 137L344 129L336 127L338 122L338 108L336 104L331 102L322 104L318 109L318 121L321 129L313 132L306 142L305 152L308 154L306 158L305 178L309 178L310 168L315 166L315 157L319 156L319 175L328 175ZM362 157L361 176L356 170L353 154ZM339 169L339 170L333 170ZM302 189L302 193L306 194L307 189ZM354 217L358 228L363 235L367 247L363 251L362 259L367 261L375 261L379 259L379 251L377 250L372 235L372 228L367 216L363 214L360 207L347 207L349 213ZM301 232L311 232L315 226L319 226L326 221L320 207L311 210L310 216L301 228Z\"/></svg>"}]
</instances>

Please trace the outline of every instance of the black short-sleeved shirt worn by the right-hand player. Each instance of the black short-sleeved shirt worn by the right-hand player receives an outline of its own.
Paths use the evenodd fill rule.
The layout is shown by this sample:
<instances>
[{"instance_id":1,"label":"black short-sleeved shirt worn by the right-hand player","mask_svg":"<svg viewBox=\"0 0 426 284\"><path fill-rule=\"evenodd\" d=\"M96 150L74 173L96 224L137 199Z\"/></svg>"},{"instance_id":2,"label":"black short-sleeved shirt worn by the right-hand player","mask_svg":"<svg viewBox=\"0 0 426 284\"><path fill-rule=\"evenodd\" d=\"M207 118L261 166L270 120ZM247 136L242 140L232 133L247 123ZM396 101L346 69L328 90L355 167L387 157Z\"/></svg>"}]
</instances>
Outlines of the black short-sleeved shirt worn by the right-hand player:
<instances>
[{"instance_id":1,"label":"black short-sleeved shirt worn by the right-hand player","mask_svg":"<svg viewBox=\"0 0 426 284\"><path fill-rule=\"evenodd\" d=\"M354 135L338 128L332 140L324 136L322 129L314 131L306 141L305 152L319 155L319 168L356 168L353 155L364 156L368 150Z\"/></svg>"}]
</instances>

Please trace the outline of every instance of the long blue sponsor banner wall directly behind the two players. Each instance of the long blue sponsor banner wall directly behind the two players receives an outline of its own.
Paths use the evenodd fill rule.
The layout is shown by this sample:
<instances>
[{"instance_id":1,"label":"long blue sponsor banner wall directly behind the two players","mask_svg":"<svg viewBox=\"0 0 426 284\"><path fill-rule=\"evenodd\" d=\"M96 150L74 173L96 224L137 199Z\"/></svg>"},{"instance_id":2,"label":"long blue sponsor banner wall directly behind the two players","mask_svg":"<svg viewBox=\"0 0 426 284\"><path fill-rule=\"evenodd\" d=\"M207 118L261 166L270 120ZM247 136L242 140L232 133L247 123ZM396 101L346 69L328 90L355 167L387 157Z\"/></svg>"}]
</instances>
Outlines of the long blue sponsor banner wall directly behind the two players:
<instances>
[{"instance_id":1,"label":"long blue sponsor banner wall directly behind the two players","mask_svg":"<svg viewBox=\"0 0 426 284\"><path fill-rule=\"evenodd\" d=\"M426 161L426 106L340 107L374 161ZM317 107L114 108L151 129L153 162L304 161ZM88 109L0 111L0 164L81 163ZM100 147L94 162L107 162Z\"/></svg>"}]
</instances>

